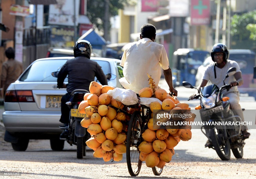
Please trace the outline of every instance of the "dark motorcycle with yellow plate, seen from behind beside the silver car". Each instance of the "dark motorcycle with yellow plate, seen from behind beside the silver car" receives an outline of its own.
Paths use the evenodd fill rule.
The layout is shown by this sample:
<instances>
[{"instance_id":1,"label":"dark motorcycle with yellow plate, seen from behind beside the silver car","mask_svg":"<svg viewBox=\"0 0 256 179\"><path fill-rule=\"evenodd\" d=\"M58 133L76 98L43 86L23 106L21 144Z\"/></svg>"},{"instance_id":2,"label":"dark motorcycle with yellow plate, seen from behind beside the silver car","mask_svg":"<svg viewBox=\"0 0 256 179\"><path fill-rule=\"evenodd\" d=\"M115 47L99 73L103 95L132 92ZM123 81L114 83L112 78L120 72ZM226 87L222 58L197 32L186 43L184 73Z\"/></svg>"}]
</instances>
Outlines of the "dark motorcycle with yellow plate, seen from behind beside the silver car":
<instances>
[{"instance_id":1,"label":"dark motorcycle with yellow plate, seen from behind beside the silver car","mask_svg":"<svg viewBox=\"0 0 256 179\"><path fill-rule=\"evenodd\" d=\"M52 72L52 76L58 77L58 71ZM78 106L85 93L89 91L84 89L73 90L70 94L69 101L66 102L70 108L69 113L69 123L68 126L60 126L60 129L68 131L67 142L70 145L77 145L77 158L82 159L86 156L86 141L90 139L90 134L87 132L86 128L81 126L81 120L85 117L85 114L78 112Z\"/></svg>"}]
</instances>

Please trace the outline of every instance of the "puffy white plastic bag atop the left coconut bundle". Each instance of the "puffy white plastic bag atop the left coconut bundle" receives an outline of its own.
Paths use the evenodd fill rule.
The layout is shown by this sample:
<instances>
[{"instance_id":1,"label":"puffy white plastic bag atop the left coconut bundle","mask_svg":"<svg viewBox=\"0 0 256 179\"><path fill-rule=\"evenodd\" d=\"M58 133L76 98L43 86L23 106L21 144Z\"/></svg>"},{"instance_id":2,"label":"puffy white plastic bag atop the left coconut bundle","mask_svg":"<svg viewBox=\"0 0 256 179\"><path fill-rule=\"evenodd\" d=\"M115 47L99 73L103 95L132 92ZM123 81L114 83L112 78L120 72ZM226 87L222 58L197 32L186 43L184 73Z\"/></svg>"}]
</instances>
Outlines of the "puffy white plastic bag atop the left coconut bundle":
<instances>
[{"instance_id":1,"label":"puffy white plastic bag atop the left coconut bundle","mask_svg":"<svg viewBox=\"0 0 256 179\"><path fill-rule=\"evenodd\" d=\"M115 100L121 101L125 105L133 105L138 103L138 97L135 91L130 89L115 88L107 92Z\"/></svg>"}]
</instances>

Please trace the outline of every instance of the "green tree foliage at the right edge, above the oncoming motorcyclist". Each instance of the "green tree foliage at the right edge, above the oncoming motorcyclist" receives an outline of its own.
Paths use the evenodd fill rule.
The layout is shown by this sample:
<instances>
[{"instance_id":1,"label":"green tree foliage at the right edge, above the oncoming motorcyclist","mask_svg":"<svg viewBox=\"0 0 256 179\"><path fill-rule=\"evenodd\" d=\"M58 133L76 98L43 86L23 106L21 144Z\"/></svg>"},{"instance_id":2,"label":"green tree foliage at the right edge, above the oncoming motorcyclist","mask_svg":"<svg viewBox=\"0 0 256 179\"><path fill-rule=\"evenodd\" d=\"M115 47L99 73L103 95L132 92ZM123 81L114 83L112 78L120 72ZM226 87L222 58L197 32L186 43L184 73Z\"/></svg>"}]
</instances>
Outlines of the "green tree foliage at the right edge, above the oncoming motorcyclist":
<instances>
[{"instance_id":1,"label":"green tree foliage at the right edge, above the oncoming motorcyclist","mask_svg":"<svg viewBox=\"0 0 256 179\"><path fill-rule=\"evenodd\" d=\"M252 24L252 25L249 25ZM230 34L233 40L255 40L256 30L256 10L244 13L242 15L235 14L231 18ZM253 28L254 26L254 28ZM254 35L253 35L254 34Z\"/></svg>"}]
</instances>

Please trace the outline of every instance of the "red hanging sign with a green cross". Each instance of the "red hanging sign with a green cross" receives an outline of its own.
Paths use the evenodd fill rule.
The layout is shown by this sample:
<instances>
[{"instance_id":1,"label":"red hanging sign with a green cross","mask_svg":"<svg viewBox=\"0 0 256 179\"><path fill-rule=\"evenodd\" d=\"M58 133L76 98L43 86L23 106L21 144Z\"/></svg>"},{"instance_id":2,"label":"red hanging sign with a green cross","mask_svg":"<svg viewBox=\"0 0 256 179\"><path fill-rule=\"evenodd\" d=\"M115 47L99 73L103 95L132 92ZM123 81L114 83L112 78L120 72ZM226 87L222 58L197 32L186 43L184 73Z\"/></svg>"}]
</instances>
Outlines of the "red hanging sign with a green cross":
<instances>
[{"instance_id":1,"label":"red hanging sign with a green cross","mask_svg":"<svg viewBox=\"0 0 256 179\"><path fill-rule=\"evenodd\" d=\"M210 0L191 0L191 25L210 24Z\"/></svg>"}]
</instances>

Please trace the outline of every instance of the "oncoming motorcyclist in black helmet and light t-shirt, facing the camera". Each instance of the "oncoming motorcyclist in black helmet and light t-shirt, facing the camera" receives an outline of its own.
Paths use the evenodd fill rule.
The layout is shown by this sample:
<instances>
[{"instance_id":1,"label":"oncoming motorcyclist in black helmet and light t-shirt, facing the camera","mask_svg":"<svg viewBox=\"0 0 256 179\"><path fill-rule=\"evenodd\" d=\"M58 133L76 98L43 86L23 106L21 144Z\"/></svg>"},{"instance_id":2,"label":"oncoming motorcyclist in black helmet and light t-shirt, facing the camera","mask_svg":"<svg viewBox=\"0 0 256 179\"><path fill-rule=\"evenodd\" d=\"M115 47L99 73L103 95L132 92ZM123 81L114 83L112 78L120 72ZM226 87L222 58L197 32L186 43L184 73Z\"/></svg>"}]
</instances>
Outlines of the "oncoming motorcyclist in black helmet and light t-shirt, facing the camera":
<instances>
[{"instance_id":1,"label":"oncoming motorcyclist in black helmet and light t-shirt, facing the camera","mask_svg":"<svg viewBox=\"0 0 256 179\"><path fill-rule=\"evenodd\" d=\"M202 77L201 87L206 86L210 80L212 84L217 85L219 88L223 85L223 79L225 79L226 73L230 67L236 67L236 73L233 76L228 77L225 82L230 84L232 88L229 91L223 91L223 97L229 97L230 109L233 109L244 121L243 112L239 104L239 91L237 88L243 84L242 72L236 61L229 60L229 51L226 45L218 43L215 44L211 51L211 58L214 64L210 64L206 67L204 76ZM192 95L190 99L193 99L195 95ZM201 115L201 119L202 115ZM242 135L244 139L249 138L250 133L247 132L247 126L242 126ZM206 130L206 134L209 136L209 130ZM211 146L211 142L208 140L205 147Z\"/></svg>"}]
</instances>

